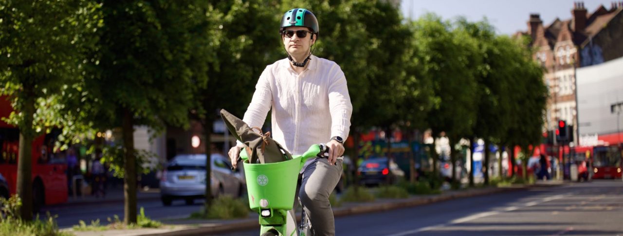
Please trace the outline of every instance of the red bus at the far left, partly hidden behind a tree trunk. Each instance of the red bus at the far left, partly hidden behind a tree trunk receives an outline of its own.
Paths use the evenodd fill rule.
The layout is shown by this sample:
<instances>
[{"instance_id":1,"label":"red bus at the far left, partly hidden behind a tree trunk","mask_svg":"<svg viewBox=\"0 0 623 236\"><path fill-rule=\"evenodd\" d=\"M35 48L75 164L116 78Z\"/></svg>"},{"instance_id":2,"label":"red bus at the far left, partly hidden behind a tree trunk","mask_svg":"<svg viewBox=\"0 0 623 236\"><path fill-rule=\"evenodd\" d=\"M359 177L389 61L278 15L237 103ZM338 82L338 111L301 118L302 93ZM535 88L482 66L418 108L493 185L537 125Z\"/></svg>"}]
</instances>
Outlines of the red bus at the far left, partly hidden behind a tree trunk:
<instances>
[{"instance_id":1,"label":"red bus at the far left, partly hidden behind a tree trunk","mask_svg":"<svg viewBox=\"0 0 623 236\"><path fill-rule=\"evenodd\" d=\"M13 108L6 96L0 97L0 118L8 117ZM64 156L55 153L55 135L40 135L32 141L33 209L45 204L67 202L68 186ZM0 119L0 173L9 184L11 195L17 190L19 129Z\"/></svg>"}]
</instances>

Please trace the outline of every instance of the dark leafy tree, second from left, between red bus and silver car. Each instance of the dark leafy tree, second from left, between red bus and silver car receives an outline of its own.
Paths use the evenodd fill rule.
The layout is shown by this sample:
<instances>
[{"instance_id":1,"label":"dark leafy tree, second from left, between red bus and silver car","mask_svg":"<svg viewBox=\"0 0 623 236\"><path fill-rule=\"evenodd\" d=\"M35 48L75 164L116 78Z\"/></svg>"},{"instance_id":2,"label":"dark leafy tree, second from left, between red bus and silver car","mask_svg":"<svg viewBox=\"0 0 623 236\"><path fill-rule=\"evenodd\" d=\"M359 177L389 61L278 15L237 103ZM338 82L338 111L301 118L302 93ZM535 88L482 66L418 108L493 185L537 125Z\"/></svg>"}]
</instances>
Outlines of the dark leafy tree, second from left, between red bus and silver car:
<instances>
[{"instance_id":1,"label":"dark leafy tree, second from left, between red bus and silver car","mask_svg":"<svg viewBox=\"0 0 623 236\"><path fill-rule=\"evenodd\" d=\"M102 1L104 25L87 80L72 94L76 123L99 130L120 128L125 173L124 220L136 223L137 153L133 131L148 126L188 126L194 90L207 82L214 60L211 22L203 1ZM80 90L83 92L80 93ZM71 108L69 108L71 109ZM69 114L69 113L68 113Z\"/></svg>"}]
</instances>

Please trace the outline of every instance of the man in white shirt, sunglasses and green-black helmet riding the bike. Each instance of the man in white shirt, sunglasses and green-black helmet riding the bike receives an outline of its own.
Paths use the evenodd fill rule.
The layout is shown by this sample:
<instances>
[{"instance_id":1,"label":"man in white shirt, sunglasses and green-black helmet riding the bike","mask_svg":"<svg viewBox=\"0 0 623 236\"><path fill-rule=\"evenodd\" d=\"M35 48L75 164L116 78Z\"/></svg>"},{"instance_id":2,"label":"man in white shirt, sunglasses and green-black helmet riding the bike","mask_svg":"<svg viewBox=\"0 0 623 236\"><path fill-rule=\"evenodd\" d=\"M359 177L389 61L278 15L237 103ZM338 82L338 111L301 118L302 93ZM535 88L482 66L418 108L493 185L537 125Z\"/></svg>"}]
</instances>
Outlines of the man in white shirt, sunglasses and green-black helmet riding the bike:
<instances>
[{"instance_id":1,"label":"man in white shirt, sunglasses and green-black helmet riding the bike","mask_svg":"<svg viewBox=\"0 0 623 236\"><path fill-rule=\"evenodd\" d=\"M340 180L339 157L344 154L353 110L346 77L335 62L312 55L319 31L311 11L285 12L279 32L288 57L264 69L242 120L250 127L261 127L271 110L273 139L292 154L328 142L327 159L312 158L305 163L298 177L298 196L315 234L335 235L329 196ZM234 168L242 148L239 142L229 150Z\"/></svg>"}]
</instances>

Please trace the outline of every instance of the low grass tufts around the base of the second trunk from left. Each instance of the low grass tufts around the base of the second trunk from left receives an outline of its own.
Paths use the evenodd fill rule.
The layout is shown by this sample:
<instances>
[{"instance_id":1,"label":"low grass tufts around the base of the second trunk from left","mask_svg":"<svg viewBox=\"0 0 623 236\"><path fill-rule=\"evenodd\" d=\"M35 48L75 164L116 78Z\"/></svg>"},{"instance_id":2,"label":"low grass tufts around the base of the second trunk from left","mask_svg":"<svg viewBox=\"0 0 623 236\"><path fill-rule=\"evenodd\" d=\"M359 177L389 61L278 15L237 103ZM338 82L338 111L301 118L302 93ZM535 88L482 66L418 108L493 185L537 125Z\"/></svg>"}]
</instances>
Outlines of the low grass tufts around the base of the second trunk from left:
<instances>
[{"instance_id":1,"label":"low grass tufts around the base of the second trunk from left","mask_svg":"<svg viewBox=\"0 0 623 236\"><path fill-rule=\"evenodd\" d=\"M136 224L125 225L123 221L119 219L118 215L114 215L113 219L108 217L108 225L101 225L100 219L92 220L90 225L80 220L79 225L74 225L72 229L74 231L103 231L109 229L143 229L143 228L159 228L162 223L157 220L152 220L145 215L145 209L141 207L139 215L136 215Z\"/></svg>"}]
</instances>

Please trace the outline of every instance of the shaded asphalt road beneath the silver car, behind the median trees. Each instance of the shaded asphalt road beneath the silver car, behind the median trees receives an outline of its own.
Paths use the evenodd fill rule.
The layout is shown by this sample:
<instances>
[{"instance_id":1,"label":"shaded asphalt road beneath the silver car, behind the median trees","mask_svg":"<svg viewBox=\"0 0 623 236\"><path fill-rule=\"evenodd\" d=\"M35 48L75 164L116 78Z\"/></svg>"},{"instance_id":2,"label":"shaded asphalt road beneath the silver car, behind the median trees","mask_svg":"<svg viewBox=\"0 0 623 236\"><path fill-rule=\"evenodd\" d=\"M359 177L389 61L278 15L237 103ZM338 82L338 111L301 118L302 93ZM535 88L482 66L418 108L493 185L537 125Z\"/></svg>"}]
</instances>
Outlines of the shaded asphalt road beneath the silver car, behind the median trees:
<instances>
[{"instance_id":1,"label":"shaded asphalt road beneath the silver car, behind the median trees","mask_svg":"<svg viewBox=\"0 0 623 236\"><path fill-rule=\"evenodd\" d=\"M170 207L164 207L159 199L138 201L138 209L143 207L145 209L145 215L153 220L186 218L189 217L192 212L199 211L202 206L203 201L199 199L195 200L193 205L186 205L183 200L176 200L173 201L173 205ZM56 220L61 229L78 225L80 220L84 220L87 225L90 225L92 220L99 219L100 225L107 225L108 217L114 219L114 215L117 215L120 220L123 220L123 202L50 205L44 207L42 212L50 212L51 215L58 215ZM140 212L138 213L140 214Z\"/></svg>"}]
</instances>

